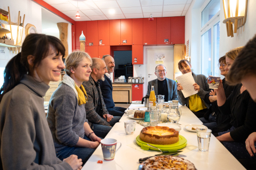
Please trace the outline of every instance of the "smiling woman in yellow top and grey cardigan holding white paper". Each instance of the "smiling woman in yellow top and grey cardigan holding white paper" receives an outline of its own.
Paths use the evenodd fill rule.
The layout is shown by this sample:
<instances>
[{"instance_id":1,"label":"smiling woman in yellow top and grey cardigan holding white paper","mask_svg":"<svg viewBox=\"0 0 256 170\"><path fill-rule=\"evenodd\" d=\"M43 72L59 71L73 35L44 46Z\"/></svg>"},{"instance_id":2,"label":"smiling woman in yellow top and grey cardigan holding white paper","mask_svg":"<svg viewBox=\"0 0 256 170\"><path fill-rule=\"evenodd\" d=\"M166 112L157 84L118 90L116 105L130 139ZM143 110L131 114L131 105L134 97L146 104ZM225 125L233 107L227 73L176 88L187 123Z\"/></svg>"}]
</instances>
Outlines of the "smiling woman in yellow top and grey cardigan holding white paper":
<instances>
[{"instance_id":1,"label":"smiling woman in yellow top and grey cardigan holding white paper","mask_svg":"<svg viewBox=\"0 0 256 170\"><path fill-rule=\"evenodd\" d=\"M198 118L203 117L205 112L210 108L210 104L205 103L204 97L210 92L207 78L203 74L195 74L191 71L191 64L187 60L180 60L178 63L179 70L182 74L192 74L195 83L194 90L198 91L195 95L184 97L180 83L177 84L179 103L186 105Z\"/></svg>"}]
</instances>

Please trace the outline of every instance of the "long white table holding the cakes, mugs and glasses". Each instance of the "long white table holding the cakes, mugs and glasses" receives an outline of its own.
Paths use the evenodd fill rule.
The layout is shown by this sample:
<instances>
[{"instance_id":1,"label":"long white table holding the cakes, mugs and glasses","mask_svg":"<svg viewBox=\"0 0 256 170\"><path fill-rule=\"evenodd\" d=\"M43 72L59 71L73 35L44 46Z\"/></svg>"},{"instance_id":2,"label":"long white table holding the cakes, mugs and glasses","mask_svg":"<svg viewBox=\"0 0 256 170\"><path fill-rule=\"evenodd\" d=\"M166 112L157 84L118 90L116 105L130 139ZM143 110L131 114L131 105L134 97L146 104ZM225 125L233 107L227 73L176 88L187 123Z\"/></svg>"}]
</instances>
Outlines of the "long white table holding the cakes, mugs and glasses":
<instances>
[{"instance_id":1,"label":"long white table holding the cakes, mugs and glasses","mask_svg":"<svg viewBox=\"0 0 256 170\"><path fill-rule=\"evenodd\" d=\"M135 106L132 104L130 107ZM137 106L137 104L136 104ZM138 105L143 106L143 105ZM197 134L187 131L184 126L186 124L202 124L202 122L186 107L181 106L181 131L180 135L187 139L187 143L193 146L198 146ZM106 138L115 138L118 142L122 143L121 148L115 154L115 159L112 161L103 161L102 164L97 163L98 160L103 160L101 145L97 147L93 155L89 158L82 170L86 169L138 169L139 158L147 157L147 154L140 152L139 150L133 149L127 144L135 141L135 138L139 135L142 125L136 124L135 134L126 135L124 130L125 119L130 119L127 115L124 115L119 123L116 123L114 127L109 131ZM119 147L119 144L117 145ZM181 153L183 154L183 153ZM190 152L184 153L187 157L185 159L190 160L198 170L202 169L245 169L239 161L237 161L233 155L219 142L214 135L211 136L209 152L199 152L198 148L191 150Z\"/></svg>"}]
</instances>

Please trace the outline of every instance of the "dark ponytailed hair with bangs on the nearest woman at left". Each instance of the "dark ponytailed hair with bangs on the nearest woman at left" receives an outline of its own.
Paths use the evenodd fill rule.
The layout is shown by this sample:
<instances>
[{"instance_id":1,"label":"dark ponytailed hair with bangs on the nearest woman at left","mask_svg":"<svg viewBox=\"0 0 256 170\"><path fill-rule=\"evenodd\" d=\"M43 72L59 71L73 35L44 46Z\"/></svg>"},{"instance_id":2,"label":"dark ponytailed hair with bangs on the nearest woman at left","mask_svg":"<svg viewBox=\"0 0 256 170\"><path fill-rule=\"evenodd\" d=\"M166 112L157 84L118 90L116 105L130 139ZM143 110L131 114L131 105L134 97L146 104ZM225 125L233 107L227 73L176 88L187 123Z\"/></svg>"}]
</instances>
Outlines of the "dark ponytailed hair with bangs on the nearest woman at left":
<instances>
[{"instance_id":1,"label":"dark ponytailed hair with bangs on the nearest woman at left","mask_svg":"<svg viewBox=\"0 0 256 170\"><path fill-rule=\"evenodd\" d=\"M0 102L5 93L13 89L24 74L33 75L34 68L37 67L50 50L54 48L57 55L65 55L65 47L57 37L45 34L29 34L22 44L21 53L15 55L7 64L4 70L4 83L0 89ZM34 56L33 65L28 64L27 57Z\"/></svg>"}]
</instances>

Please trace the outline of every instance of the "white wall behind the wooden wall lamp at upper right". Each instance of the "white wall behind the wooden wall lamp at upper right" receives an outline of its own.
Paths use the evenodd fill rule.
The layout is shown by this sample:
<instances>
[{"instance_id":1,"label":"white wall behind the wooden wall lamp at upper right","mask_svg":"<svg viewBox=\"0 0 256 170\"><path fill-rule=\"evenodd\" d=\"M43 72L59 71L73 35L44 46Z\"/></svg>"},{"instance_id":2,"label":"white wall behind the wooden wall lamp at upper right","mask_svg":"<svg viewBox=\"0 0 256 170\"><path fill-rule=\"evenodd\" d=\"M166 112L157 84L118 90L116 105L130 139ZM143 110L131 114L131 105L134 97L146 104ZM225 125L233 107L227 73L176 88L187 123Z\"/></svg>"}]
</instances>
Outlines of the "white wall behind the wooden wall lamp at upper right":
<instances>
[{"instance_id":1,"label":"white wall behind the wooden wall lamp at upper right","mask_svg":"<svg viewBox=\"0 0 256 170\"><path fill-rule=\"evenodd\" d=\"M223 3L221 1L221 32L220 32L220 56L223 56L230 49L235 47L245 46L249 39L256 34L256 1L248 1L247 19L245 23L245 30L243 27L239 29L239 33L234 34L234 37L227 36L227 31L223 20L225 19L223 11ZM238 30L237 30L238 31Z\"/></svg>"}]
</instances>

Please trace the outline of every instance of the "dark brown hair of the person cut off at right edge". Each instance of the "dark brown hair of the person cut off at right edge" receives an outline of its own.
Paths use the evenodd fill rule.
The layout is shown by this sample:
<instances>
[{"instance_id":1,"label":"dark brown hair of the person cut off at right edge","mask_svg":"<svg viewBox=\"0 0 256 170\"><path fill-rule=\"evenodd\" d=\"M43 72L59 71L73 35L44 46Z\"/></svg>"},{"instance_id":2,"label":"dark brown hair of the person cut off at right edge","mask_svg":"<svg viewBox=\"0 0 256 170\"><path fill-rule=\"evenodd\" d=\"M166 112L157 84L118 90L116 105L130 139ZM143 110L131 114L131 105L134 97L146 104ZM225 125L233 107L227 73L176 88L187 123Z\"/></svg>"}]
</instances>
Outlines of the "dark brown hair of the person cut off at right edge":
<instances>
[{"instance_id":1,"label":"dark brown hair of the person cut off at right edge","mask_svg":"<svg viewBox=\"0 0 256 170\"><path fill-rule=\"evenodd\" d=\"M231 85L241 83L241 80L248 74L256 75L256 35L247 42L246 46L236 56L230 68L227 79Z\"/></svg>"}]
</instances>

